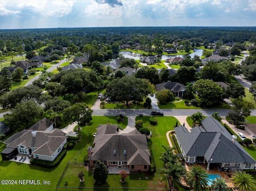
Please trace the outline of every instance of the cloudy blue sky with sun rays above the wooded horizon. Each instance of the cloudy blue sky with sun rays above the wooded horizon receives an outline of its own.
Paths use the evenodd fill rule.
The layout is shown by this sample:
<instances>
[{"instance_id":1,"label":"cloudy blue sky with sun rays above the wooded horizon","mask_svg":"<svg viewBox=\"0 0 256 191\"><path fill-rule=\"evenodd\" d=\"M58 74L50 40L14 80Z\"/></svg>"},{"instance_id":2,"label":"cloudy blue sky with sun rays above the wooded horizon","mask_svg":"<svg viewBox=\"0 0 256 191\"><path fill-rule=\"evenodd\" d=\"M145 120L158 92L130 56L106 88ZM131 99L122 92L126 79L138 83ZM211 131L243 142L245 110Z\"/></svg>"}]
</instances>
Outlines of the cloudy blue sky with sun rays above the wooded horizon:
<instances>
[{"instance_id":1,"label":"cloudy blue sky with sun rays above the wooded horizon","mask_svg":"<svg viewBox=\"0 0 256 191\"><path fill-rule=\"evenodd\" d=\"M256 0L0 0L0 29L256 26Z\"/></svg>"}]
</instances>

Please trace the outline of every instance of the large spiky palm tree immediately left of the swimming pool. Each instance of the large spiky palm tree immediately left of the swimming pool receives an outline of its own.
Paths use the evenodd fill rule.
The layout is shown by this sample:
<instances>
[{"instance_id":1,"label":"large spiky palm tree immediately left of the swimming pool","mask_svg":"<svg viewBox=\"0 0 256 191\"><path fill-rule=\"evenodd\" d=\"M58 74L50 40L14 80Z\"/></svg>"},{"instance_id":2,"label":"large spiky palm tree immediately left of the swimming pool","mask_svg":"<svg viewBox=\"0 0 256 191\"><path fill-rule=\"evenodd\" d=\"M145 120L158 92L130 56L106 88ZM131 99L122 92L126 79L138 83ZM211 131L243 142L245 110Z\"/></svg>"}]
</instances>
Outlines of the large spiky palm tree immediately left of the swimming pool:
<instances>
[{"instance_id":1,"label":"large spiky palm tree immediately left of the swimming pool","mask_svg":"<svg viewBox=\"0 0 256 191\"><path fill-rule=\"evenodd\" d=\"M190 190L204 191L208 186L208 175L202 167L195 165L188 171L186 182L190 186Z\"/></svg>"}]
</instances>

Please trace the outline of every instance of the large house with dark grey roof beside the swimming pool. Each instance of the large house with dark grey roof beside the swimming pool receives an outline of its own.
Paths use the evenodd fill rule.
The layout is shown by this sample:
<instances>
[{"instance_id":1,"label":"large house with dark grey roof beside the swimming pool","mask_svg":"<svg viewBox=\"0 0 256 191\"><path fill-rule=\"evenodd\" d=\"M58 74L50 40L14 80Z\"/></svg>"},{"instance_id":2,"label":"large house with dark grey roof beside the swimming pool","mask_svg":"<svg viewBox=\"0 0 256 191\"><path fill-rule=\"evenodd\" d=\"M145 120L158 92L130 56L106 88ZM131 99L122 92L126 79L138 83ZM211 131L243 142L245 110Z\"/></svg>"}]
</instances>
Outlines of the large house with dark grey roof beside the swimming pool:
<instances>
[{"instance_id":1,"label":"large house with dark grey roof beside the swimming pool","mask_svg":"<svg viewBox=\"0 0 256 191\"><path fill-rule=\"evenodd\" d=\"M200 161L207 169L253 169L256 161L229 132L212 116L204 118L200 126L188 131L182 125L175 129L177 142L187 163Z\"/></svg>"}]
</instances>

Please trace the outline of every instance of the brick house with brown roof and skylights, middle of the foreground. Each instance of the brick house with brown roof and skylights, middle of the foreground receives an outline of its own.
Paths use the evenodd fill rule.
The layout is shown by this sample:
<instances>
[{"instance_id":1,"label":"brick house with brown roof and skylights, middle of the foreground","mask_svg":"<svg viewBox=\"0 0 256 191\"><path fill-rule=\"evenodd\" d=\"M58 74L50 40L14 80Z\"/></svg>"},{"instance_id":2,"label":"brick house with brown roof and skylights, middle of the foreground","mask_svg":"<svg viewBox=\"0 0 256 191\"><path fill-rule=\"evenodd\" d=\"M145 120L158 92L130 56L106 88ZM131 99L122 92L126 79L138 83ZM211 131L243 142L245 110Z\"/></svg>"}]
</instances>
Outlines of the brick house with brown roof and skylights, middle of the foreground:
<instances>
[{"instance_id":1,"label":"brick house with brown roof and skylights, middle of the foreground","mask_svg":"<svg viewBox=\"0 0 256 191\"><path fill-rule=\"evenodd\" d=\"M150 151L145 134L137 130L117 134L117 125L99 125L94 147L88 147L89 165L103 161L108 167L129 167L130 171L148 171Z\"/></svg>"}]
</instances>

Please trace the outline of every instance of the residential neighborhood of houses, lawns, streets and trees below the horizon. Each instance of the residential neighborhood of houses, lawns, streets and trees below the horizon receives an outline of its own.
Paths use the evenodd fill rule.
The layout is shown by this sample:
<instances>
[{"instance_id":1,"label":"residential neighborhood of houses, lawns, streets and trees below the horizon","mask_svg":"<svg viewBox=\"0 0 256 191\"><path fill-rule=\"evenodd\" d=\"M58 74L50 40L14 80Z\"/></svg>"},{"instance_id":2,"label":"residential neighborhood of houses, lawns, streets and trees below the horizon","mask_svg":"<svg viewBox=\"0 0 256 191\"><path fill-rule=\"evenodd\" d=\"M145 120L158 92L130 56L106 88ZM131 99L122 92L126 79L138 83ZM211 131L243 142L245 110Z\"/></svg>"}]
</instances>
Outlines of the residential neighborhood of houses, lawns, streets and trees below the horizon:
<instances>
[{"instance_id":1,"label":"residential neighborhood of houses, lawns, streets and trees below the horizon","mask_svg":"<svg viewBox=\"0 0 256 191\"><path fill-rule=\"evenodd\" d=\"M24 179L11 173L20 168L52 183L43 190L197 190L195 172L207 181L203 190L216 180L238 190L242 175L254 182L254 39L223 39L216 28L208 41L170 41L156 28L162 38L134 31L114 41L114 30L94 30L71 28L48 41L45 32L36 32L40 40L20 32L24 46L11 47L0 30L4 179ZM75 33L85 31L95 36Z\"/></svg>"}]
</instances>

